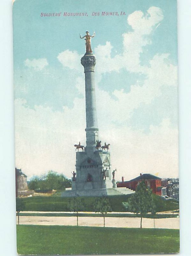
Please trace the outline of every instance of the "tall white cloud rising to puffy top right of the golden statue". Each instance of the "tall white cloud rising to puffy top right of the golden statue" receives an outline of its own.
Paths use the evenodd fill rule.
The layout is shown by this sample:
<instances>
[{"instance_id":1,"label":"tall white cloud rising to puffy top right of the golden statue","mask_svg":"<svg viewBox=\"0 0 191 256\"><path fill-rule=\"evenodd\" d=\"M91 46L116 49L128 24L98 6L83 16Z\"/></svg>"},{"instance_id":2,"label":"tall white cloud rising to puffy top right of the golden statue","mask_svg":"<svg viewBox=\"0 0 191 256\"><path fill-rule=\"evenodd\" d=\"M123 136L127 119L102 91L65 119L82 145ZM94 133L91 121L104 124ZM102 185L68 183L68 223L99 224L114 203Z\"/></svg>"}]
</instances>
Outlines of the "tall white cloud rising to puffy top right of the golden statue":
<instances>
[{"instance_id":1,"label":"tall white cloud rising to puffy top right of the golden statue","mask_svg":"<svg viewBox=\"0 0 191 256\"><path fill-rule=\"evenodd\" d=\"M140 53L142 47L151 44L149 35L154 27L163 20L162 10L158 7L150 7L144 15L141 11L135 11L127 18L127 23L133 31L123 34L123 53L111 58L110 42L105 45L98 45L95 49L98 72L105 73L119 71L120 68L126 68L130 72L145 73L145 69L140 66Z\"/></svg>"}]
</instances>

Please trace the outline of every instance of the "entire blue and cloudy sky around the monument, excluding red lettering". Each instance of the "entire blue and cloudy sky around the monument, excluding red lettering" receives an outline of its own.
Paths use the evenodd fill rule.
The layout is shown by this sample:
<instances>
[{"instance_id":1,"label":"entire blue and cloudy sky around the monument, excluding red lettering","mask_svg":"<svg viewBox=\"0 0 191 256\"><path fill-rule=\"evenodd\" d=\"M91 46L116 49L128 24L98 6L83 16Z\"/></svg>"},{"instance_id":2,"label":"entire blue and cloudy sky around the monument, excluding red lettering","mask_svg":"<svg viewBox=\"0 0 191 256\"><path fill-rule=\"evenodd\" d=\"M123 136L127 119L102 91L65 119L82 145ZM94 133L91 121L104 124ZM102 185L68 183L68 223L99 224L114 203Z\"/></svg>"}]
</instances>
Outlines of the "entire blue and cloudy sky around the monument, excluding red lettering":
<instances>
[{"instance_id":1,"label":"entire blue and cloudy sky around the monument, excluding red lettering","mask_svg":"<svg viewBox=\"0 0 191 256\"><path fill-rule=\"evenodd\" d=\"M91 15L102 11L119 16ZM73 145L86 140L85 44L79 33L88 30L96 31L99 137L111 144L116 178L140 172L178 177L176 23L176 1L16 0L16 167L29 178L48 170L70 177L75 170Z\"/></svg>"}]
</instances>

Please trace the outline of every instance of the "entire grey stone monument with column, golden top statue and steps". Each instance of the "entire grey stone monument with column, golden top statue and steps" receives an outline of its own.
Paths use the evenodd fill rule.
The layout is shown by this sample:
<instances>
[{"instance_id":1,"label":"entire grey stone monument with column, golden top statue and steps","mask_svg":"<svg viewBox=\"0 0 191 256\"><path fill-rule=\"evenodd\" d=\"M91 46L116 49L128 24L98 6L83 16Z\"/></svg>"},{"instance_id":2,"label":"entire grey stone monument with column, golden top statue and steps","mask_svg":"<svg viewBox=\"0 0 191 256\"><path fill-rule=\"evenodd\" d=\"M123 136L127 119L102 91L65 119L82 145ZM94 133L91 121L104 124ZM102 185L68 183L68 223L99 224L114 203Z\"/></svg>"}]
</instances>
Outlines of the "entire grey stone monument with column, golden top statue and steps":
<instances>
[{"instance_id":1,"label":"entire grey stone monument with column, golden top statue and steps","mask_svg":"<svg viewBox=\"0 0 191 256\"><path fill-rule=\"evenodd\" d=\"M114 170L111 174L110 144L101 141L98 136L94 67L96 58L91 50L89 32L80 38L86 41L86 53L81 58L85 73L86 92L86 147L75 144L76 172L73 172L72 190L66 190L63 196L106 196L133 193L128 188L117 188Z\"/></svg>"}]
</instances>

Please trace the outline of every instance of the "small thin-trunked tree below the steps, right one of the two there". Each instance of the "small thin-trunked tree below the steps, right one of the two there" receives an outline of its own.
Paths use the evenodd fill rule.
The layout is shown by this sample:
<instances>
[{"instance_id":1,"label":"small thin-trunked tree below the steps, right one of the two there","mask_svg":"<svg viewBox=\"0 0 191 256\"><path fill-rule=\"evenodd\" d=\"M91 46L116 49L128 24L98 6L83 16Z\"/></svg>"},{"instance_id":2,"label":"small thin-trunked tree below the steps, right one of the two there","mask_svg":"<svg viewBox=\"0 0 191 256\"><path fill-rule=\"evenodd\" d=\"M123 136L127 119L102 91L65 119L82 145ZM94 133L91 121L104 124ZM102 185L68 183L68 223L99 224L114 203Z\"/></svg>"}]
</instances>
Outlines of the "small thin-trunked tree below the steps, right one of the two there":
<instances>
[{"instance_id":1,"label":"small thin-trunked tree below the steps, right one of the two there","mask_svg":"<svg viewBox=\"0 0 191 256\"><path fill-rule=\"evenodd\" d=\"M95 212L100 212L103 216L103 227L105 227L105 217L108 212L111 212L111 206L107 197L97 198L94 204Z\"/></svg>"}]
</instances>

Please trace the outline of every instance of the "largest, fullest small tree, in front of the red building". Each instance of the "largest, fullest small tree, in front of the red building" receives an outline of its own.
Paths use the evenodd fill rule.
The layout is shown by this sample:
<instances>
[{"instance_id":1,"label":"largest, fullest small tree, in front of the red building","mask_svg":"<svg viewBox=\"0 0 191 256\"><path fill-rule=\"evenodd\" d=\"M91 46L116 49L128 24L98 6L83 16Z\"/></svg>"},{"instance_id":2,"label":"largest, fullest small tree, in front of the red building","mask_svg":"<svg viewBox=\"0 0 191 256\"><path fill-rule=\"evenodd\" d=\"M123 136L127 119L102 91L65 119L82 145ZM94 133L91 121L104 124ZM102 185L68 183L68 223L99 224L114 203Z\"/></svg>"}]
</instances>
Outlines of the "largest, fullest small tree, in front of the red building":
<instances>
[{"instance_id":1,"label":"largest, fullest small tree, in front of the red building","mask_svg":"<svg viewBox=\"0 0 191 256\"><path fill-rule=\"evenodd\" d=\"M125 206L125 204L123 204ZM145 181L142 180L137 188L135 193L130 197L128 201L128 210L135 213L141 214L141 226L142 228L142 217L143 214L151 212L155 213L155 203L153 200L152 190L147 187Z\"/></svg>"}]
</instances>

